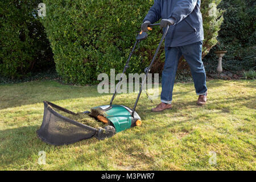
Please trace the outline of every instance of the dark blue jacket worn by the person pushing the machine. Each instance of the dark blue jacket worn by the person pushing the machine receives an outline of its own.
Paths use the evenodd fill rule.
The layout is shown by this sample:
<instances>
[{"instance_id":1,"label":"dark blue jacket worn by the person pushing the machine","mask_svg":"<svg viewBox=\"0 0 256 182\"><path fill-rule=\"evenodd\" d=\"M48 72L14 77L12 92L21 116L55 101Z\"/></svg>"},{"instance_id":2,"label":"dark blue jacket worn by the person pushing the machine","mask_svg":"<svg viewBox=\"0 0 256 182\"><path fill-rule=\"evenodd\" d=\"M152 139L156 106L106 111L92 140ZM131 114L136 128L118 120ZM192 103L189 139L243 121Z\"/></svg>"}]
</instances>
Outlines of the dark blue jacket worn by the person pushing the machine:
<instances>
[{"instance_id":1,"label":"dark blue jacket worn by the person pushing the machine","mask_svg":"<svg viewBox=\"0 0 256 182\"><path fill-rule=\"evenodd\" d=\"M144 21L155 23L161 18L175 20L174 26L170 26L166 35L166 47L199 42L204 39L200 3L201 0L155 0Z\"/></svg>"}]
</instances>

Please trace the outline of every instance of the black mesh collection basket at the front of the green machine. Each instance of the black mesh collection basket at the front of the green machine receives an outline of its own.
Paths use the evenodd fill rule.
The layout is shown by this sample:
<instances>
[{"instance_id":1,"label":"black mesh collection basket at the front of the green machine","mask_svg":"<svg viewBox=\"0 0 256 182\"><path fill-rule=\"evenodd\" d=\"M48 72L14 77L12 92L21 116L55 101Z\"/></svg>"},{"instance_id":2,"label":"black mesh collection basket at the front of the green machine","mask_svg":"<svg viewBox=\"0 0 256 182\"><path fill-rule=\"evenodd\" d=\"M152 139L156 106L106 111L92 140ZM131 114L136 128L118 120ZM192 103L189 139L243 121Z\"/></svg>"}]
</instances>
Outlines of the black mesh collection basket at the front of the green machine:
<instances>
[{"instance_id":1,"label":"black mesh collection basket at the front of the green machine","mask_svg":"<svg viewBox=\"0 0 256 182\"><path fill-rule=\"evenodd\" d=\"M44 101L43 123L40 129L36 131L43 142L61 146L92 138L98 134L98 129L73 121L61 115L61 112L76 114L51 102Z\"/></svg>"}]
</instances>

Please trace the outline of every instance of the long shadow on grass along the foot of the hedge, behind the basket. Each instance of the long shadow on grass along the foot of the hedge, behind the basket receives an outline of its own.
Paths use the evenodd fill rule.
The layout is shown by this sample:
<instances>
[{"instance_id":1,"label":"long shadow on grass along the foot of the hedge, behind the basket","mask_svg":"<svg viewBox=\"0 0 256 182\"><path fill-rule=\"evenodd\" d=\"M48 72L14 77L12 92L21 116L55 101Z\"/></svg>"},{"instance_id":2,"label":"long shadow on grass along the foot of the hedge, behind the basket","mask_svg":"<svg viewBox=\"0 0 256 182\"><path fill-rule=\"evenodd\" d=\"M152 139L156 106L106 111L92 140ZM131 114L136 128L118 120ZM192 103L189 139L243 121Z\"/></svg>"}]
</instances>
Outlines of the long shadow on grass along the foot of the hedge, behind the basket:
<instances>
[{"instance_id":1,"label":"long shadow on grass along the foot of the hedge, behind the basket","mask_svg":"<svg viewBox=\"0 0 256 182\"><path fill-rule=\"evenodd\" d=\"M61 85L56 81L33 81L1 85L0 92L0 110L23 105L43 104L43 101L54 103L60 100L112 95L98 93L97 86Z\"/></svg>"}]
</instances>

